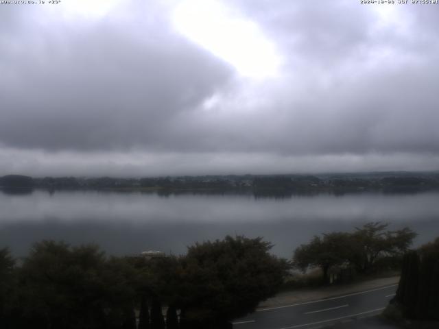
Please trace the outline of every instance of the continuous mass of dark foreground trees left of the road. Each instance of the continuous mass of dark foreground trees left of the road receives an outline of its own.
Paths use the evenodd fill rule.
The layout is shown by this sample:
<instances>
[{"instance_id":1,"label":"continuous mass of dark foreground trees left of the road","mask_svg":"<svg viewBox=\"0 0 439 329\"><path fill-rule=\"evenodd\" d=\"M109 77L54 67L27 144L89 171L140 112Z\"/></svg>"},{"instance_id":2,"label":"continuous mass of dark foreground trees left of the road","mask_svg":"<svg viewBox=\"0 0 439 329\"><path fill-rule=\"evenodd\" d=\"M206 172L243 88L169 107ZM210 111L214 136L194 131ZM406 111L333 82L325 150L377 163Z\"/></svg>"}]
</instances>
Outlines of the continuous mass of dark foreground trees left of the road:
<instances>
[{"instance_id":1,"label":"continuous mass of dark foreground trees left of the road","mask_svg":"<svg viewBox=\"0 0 439 329\"><path fill-rule=\"evenodd\" d=\"M178 257L108 257L54 241L22 260L0 249L0 328L231 328L283 283L287 263L271 247L226 236Z\"/></svg>"}]
</instances>

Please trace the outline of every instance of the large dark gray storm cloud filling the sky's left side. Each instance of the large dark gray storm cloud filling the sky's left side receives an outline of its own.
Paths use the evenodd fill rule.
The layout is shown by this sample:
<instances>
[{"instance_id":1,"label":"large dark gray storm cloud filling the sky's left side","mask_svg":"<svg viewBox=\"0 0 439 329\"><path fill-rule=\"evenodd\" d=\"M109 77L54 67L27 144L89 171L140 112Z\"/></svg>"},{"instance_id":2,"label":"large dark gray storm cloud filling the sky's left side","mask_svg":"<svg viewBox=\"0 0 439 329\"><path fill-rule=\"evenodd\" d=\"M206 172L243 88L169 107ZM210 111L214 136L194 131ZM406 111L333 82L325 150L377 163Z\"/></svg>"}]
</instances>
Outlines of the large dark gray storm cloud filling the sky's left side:
<instances>
[{"instance_id":1,"label":"large dark gray storm cloud filling the sky's left side","mask_svg":"<svg viewBox=\"0 0 439 329\"><path fill-rule=\"evenodd\" d=\"M16 21L9 29L23 29L19 44L1 42L0 141L54 150L160 145L167 122L230 74L166 23Z\"/></svg>"}]
</instances>

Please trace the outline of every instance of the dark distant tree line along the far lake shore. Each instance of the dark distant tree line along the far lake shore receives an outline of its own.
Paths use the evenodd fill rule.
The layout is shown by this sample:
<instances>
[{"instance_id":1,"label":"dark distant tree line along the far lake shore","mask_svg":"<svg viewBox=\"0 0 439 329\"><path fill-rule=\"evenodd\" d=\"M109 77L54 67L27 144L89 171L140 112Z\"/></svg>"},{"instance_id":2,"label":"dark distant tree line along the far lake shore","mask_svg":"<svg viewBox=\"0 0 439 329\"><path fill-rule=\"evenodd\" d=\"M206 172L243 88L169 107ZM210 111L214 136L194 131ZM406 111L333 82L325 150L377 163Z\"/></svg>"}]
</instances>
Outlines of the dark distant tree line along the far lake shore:
<instances>
[{"instance_id":1,"label":"dark distant tree line along the far lake shore","mask_svg":"<svg viewBox=\"0 0 439 329\"><path fill-rule=\"evenodd\" d=\"M439 188L438 173L393 173L392 175L204 175L158 178L30 178L7 175L0 178L2 188L56 189L138 189L163 193L178 191L238 191L256 196L288 196L319 191L425 191Z\"/></svg>"}]
</instances>

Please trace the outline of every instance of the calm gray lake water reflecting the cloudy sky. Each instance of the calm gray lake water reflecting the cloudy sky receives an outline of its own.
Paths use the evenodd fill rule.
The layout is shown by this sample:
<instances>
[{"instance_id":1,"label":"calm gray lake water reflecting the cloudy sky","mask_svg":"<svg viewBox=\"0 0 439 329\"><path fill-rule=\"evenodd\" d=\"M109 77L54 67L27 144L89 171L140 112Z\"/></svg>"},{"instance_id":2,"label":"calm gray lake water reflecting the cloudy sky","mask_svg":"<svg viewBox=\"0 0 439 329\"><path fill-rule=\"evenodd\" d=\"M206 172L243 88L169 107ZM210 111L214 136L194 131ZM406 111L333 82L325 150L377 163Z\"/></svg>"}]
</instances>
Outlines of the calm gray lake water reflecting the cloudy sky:
<instances>
[{"instance_id":1,"label":"calm gray lake water reflecting the cloudy sky","mask_svg":"<svg viewBox=\"0 0 439 329\"><path fill-rule=\"evenodd\" d=\"M0 247L24 256L35 241L98 243L109 254L161 250L183 254L196 241L226 234L263 236L278 256L314 234L353 230L368 221L409 226L416 245L439 236L439 193L294 195L157 195L99 191L0 191Z\"/></svg>"}]
</instances>

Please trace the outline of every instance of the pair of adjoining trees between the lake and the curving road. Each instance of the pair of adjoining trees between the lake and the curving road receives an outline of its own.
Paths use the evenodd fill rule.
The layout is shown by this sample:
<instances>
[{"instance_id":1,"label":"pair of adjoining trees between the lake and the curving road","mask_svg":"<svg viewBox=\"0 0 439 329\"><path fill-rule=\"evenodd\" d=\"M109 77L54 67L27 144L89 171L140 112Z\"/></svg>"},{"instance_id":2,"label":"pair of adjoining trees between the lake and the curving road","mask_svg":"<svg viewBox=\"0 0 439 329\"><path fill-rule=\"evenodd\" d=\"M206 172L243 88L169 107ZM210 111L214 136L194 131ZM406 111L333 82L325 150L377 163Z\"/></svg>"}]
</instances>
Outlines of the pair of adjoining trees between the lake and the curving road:
<instances>
[{"instance_id":1,"label":"pair of adjoining trees between the lake and the curving road","mask_svg":"<svg viewBox=\"0 0 439 329\"><path fill-rule=\"evenodd\" d=\"M333 267L356 273L370 273L383 265L399 269L403 254L412 245L416 233L410 228L388 230L388 223L371 222L354 232L331 232L314 236L294 251L293 264L306 271L322 269L322 282L329 283Z\"/></svg>"}]
</instances>

